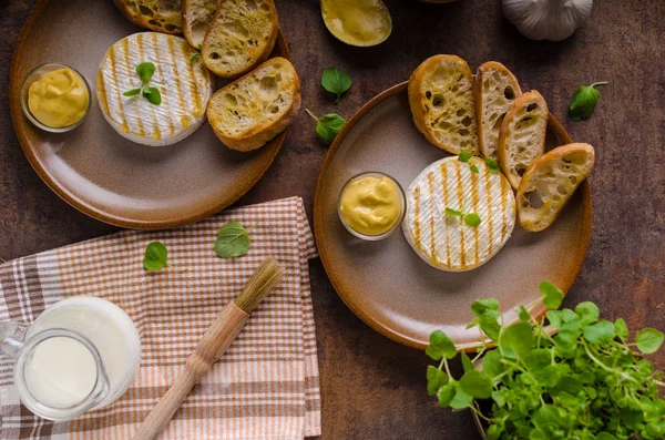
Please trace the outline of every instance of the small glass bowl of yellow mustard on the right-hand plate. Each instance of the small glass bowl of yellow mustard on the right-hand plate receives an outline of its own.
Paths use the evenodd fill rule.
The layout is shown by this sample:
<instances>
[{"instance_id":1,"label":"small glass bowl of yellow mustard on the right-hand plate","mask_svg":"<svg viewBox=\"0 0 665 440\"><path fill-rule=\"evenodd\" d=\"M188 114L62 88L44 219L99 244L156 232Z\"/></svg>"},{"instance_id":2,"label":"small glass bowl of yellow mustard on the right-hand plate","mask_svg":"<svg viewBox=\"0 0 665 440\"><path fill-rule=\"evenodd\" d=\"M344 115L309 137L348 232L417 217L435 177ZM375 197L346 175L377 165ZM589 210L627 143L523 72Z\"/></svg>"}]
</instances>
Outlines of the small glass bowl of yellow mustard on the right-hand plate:
<instances>
[{"instance_id":1,"label":"small glass bowl of yellow mustard on the right-hand plate","mask_svg":"<svg viewBox=\"0 0 665 440\"><path fill-rule=\"evenodd\" d=\"M358 238L379 241L399 228L407 209L400 184L387 174L369 172L351 177L339 194L337 212Z\"/></svg>"}]
</instances>

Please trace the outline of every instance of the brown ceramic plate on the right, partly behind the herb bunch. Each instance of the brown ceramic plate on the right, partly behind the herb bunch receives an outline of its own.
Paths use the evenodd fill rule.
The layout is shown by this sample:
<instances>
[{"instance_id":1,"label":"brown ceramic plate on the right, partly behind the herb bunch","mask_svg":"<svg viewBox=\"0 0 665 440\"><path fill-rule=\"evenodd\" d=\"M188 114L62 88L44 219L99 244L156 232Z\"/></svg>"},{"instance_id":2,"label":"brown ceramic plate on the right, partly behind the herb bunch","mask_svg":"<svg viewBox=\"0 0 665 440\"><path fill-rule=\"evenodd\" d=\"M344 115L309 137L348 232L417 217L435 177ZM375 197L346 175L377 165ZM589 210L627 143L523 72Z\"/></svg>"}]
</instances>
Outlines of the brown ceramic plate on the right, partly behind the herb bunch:
<instances>
[{"instance_id":1,"label":"brown ceramic plate on the right, partly behind the herb bunch","mask_svg":"<svg viewBox=\"0 0 665 440\"><path fill-rule=\"evenodd\" d=\"M570 142L552 117L548 147ZM430 332L442 329L458 346L471 349L479 335L466 326L472 320L469 306L474 299L498 298L502 309L510 311L538 301L542 280L567 291L589 246L591 192L584 183L543 233L526 233L518 224L494 258L466 273L430 267L411 249L401 231L380 242L365 242L345 229L337 215L337 199L350 177L377 171L406 188L427 165L446 155L413 125L407 83L387 90L360 109L330 146L318 180L314 226L332 285L375 330L424 348ZM538 301L532 313L541 314L543 307Z\"/></svg>"}]
</instances>

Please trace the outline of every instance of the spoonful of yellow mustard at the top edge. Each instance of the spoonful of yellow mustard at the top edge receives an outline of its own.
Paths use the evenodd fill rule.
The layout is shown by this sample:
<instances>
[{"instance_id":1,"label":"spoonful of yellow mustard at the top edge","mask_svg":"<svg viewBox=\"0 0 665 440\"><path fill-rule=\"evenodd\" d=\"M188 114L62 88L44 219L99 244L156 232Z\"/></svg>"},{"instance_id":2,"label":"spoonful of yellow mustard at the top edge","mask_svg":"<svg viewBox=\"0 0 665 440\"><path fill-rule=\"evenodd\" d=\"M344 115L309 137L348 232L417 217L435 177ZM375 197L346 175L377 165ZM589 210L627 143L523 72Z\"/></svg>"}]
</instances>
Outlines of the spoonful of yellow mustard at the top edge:
<instances>
[{"instance_id":1,"label":"spoonful of yellow mustard at the top edge","mask_svg":"<svg viewBox=\"0 0 665 440\"><path fill-rule=\"evenodd\" d=\"M321 14L328 30L352 45L378 44L392 31L381 0L321 0Z\"/></svg>"}]
</instances>

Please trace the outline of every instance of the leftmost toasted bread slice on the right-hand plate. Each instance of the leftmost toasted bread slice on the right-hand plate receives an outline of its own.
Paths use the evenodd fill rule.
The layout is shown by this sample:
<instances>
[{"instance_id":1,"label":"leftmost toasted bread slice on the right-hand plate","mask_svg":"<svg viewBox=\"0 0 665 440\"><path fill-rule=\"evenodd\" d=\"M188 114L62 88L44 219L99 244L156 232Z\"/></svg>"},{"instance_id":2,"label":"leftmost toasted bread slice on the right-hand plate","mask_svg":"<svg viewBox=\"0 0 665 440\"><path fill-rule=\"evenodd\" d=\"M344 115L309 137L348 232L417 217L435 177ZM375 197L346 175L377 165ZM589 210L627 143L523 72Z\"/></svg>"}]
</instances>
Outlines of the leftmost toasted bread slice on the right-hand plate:
<instances>
[{"instance_id":1,"label":"leftmost toasted bread slice on the right-hand plate","mask_svg":"<svg viewBox=\"0 0 665 440\"><path fill-rule=\"evenodd\" d=\"M473 75L464 60L434 55L409 79L409 104L418 130L452 154L478 154Z\"/></svg>"}]
</instances>

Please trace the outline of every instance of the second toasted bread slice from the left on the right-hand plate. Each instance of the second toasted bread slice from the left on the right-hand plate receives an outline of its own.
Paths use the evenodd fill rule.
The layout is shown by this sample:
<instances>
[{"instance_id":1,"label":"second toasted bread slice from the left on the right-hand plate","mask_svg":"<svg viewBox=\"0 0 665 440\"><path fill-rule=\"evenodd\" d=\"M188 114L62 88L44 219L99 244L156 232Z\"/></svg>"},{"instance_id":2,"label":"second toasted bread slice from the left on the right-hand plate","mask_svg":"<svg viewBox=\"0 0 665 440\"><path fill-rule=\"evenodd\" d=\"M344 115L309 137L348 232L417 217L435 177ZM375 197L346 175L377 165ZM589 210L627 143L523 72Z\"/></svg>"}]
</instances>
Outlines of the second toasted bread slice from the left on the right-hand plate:
<instances>
[{"instance_id":1,"label":"second toasted bread slice from the left on the right-hand plate","mask_svg":"<svg viewBox=\"0 0 665 440\"><path fill-rule=\"evenodd\" d=\"M518 79L505 65L488 61L475 73L478 144L487 158L498 158L499 131L510 105L522 94Z\"/></svg>"}]
</instances>

